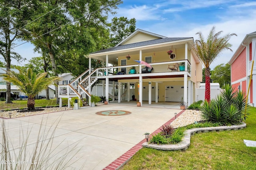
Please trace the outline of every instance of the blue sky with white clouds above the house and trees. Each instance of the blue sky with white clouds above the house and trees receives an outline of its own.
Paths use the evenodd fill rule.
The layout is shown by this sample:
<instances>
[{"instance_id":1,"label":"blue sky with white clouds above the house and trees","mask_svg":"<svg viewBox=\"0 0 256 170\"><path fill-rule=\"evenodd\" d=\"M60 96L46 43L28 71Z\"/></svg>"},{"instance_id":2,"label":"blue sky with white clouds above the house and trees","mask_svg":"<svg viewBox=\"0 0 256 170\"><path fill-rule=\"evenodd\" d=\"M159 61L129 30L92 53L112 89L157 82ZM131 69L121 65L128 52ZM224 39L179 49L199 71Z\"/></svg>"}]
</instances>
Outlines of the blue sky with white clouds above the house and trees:
<instances>
[{"instance_id":1,"label":"blue sky with white clouds above the house and trees","mask_svg":"<svg viewBox=\"0 0 256 170\"><path fill-rule=\"evenodd\" d=\"M256 31L256 0L123 0L116 10L116 17L136 19L136 29L142 29L166 37L193 37L202 32L205 38L213 26L221 36L236 33L231 37L232 51L224 51L211 64L214 69L226 64L241 44L246 34ZM114 16L109 16L109 20ZM17 41L16 45L21 44ZM12 64L24 65L32 57L34 47L25 43L14 50L27 60L12 59Z\"/></svg>"}]
</instances>

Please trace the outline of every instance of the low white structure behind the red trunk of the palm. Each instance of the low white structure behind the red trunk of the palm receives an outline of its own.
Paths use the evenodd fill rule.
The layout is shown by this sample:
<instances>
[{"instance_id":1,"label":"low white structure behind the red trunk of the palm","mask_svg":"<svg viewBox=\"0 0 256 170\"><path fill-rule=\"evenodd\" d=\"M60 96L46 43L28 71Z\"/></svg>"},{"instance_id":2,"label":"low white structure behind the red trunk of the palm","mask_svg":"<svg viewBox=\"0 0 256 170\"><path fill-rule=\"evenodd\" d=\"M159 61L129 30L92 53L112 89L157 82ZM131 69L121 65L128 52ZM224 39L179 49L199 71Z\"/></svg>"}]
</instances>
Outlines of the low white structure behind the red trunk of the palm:
<instances>
[{"instance_id":1,"label":"low white structure behind the red trunk of the palm","mask_svg":"<svg viewBox=\"0 0 256 170\"><path fill-rule=\"evenodd\" d=\"M218 94L222 91L219 83L210 83L210 91L211 91L211 100L216 98ZM200 88L196 89L196 101L202 100L204 101L205 96L205 83L200 83Z\"/></svg>"}]
</instances>

